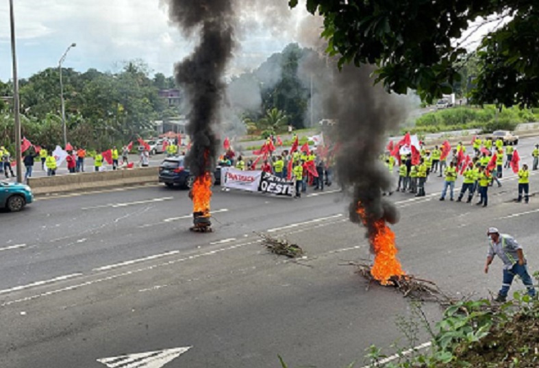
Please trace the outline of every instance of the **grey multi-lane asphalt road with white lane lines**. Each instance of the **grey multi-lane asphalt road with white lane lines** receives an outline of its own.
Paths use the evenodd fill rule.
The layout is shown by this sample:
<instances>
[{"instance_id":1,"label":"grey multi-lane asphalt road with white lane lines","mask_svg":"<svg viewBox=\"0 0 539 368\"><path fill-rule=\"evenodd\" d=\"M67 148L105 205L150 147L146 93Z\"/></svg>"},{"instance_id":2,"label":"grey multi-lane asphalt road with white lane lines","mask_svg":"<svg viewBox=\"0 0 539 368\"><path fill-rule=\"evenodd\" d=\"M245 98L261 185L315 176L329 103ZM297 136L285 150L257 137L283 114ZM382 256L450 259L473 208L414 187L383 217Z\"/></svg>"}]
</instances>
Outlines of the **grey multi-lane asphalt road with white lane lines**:
<instances>
[{"instance_id":1,"label":"grey multi-lane asphalt road with white lane lines","mask_svg":"<svg viewBox=\"0 0 539 368\"><path fill-rule=\"evenodd\" d=\"M534 142L518 146L525 162ZM516 177L504 176L488 208L438 201L438 177L427 197L394 193L405 271L455 296L488 296L501 282L499 260L483 273L488 226L516 236L539 269L539 202L514 203ZM537 181L533 172L531 193ZM0 213L0 367L97 368L105 367L99 359L179 347L190 349L166 368L279 367L277 354L291 367L344 367L361 363L372 343L427 341L419 334L408 342L397 328L410 315L407 299L367 290L345 265L369 257L347 205L334 187L299 200L216 188L209 234L189 232L187 193L161 186L39 199ZM286 236L306 258L268 254L255 231ZM425 306L433 322L440 311ZM147 356L115 362L161 367L145 364Z\"/></svg>"}]
</instances>

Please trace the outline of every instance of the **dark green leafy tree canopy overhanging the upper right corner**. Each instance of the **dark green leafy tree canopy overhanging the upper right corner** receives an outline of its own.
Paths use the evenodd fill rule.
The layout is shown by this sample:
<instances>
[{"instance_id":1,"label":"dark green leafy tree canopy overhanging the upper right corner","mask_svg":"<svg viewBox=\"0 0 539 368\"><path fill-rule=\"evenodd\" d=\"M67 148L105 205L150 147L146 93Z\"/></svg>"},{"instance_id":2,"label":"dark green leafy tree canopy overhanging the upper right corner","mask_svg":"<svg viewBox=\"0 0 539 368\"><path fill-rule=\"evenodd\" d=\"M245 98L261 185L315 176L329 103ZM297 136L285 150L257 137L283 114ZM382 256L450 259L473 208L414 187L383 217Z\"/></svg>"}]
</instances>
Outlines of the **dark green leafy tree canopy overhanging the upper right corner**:
<instances>
[{"instance_id":1,"label":"dark green leafy tree canopy overhanging the upper right corner","mask_svg":"<svg viewBox=\"0 0 539 368\"><path fill-rule=\"evenodd\" d=\"M290 0L297 6L297 0ZM494 25L479 44L477 103L536 106L539 9L534 0L308 0L324 17L327 52L339 65L375 64L375 81L431 102L461 82L467 42L478 18ZM505 23L505 24L503 24ZM501 26L503 24L503 26ZM501 27L500 27L501 26Z\"/></svg>"}]
</instances>

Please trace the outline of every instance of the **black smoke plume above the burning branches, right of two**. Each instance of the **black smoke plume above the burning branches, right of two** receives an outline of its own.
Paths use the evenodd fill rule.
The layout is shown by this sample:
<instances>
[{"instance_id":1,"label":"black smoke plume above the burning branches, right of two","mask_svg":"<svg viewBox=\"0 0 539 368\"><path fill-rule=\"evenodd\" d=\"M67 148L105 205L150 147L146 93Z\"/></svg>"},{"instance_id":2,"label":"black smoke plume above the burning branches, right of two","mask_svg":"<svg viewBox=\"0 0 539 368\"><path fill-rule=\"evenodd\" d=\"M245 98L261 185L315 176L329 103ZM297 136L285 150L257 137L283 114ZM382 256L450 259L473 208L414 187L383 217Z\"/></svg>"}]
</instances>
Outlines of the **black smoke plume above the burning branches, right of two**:
<instances>
[{"instance_id":1,"label":"black smoke plume above the burning branches, right of two","mask_svg":"<svg viewBox=\"0 0 539 368\"><path fill-rule=\"evenodd\" d=\"M399 221L399 212L384 192L394 190L388 169L380 160L389 132L396 131L406 115L402 99L373 85L373 66L345 65L339 71L336 60L316 53L303 60L301 73L314 75L320 93L314 97L325 118L338 119L331 136L338 146L336 175L351 193L349 217L360 223L358 204L365 210L368 236L375 234L375 222Z\"/></svg>"}]
</instances>

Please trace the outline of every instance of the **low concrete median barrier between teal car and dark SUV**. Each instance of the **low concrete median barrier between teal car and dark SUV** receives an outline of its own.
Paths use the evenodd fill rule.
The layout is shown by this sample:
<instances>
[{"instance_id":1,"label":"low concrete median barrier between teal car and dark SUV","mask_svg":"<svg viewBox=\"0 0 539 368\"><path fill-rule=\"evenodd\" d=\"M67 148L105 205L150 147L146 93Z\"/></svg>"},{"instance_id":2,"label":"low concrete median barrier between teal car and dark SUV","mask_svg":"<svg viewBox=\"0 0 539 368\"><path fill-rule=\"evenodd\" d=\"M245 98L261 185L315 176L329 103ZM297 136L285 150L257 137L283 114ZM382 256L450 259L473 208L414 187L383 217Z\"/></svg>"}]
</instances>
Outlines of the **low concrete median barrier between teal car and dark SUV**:
<instances>
[{"instance_id":1,"label":"low concrete median barrier between teal car and dark SUV","mask_svg":"<svg viewBox=\"0 0 539 368\"><path fill-rule=\"evenodd\" d=\"M141 167L99 173L76 173L48 177L29 177L34 195L84 191L87 189L158 184L159 167Z\"/></svg>"}]
</instances>

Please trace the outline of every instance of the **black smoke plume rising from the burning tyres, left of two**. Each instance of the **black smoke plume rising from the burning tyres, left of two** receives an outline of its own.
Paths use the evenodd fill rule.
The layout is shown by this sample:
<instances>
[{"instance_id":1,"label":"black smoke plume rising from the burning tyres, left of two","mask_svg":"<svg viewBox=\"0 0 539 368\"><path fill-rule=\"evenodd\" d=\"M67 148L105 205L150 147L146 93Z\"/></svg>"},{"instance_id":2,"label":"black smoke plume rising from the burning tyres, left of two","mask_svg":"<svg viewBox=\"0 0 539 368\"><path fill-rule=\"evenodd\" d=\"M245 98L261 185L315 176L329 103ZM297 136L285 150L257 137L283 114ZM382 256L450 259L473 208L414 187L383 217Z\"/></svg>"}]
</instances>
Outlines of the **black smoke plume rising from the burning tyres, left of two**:
<instances>
[{"instance_id":1,"label":"black smoke plume rising from the burning tyres, left of two","mask_svg":"<svg viewBox=\"0 0 539 368\"><path fill-rule=\"evenodd\" d=\"M225 93L223 75L234 49L232 0L168 0L171 21L191 36L199 31L200 42L188 58L175 64L176 82L189 100L187 133L192 147L186 158L195 177L212 172L219 140L214 125Z\"/></svg>"}]
</instances>

